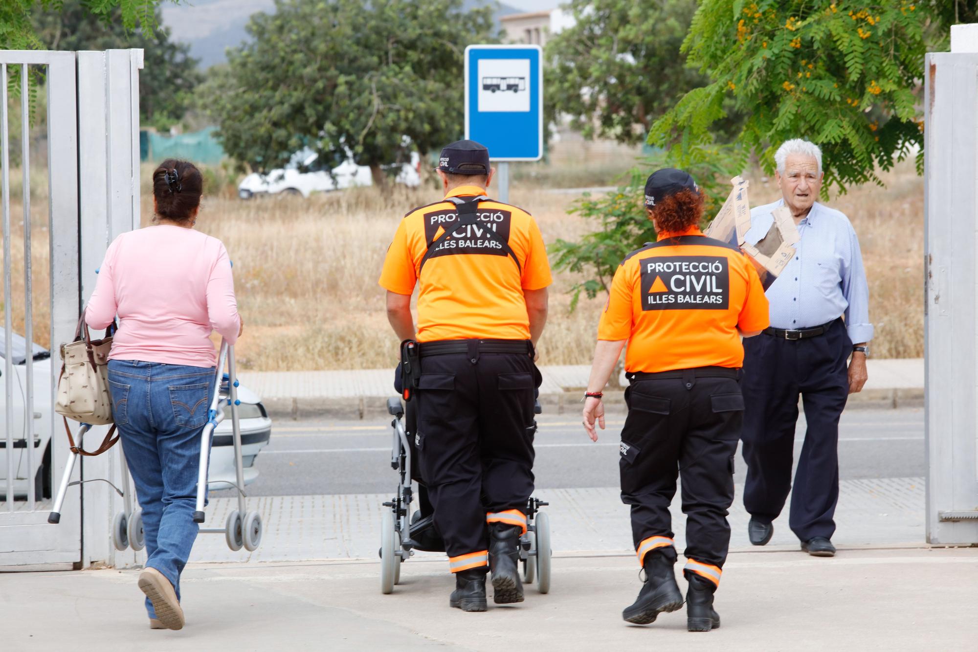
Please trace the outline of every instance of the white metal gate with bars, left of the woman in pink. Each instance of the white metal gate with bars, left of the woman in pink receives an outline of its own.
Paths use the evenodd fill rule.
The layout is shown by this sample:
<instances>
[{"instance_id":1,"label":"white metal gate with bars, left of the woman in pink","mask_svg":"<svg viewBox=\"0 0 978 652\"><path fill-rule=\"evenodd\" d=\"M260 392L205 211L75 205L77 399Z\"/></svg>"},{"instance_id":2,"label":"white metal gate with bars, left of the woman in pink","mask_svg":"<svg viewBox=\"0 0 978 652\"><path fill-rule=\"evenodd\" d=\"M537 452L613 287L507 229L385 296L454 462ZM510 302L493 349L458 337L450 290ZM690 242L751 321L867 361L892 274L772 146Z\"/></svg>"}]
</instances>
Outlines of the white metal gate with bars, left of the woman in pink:
<instances>
[{"instance_id":1,"label":"white metal gate with bars, left of the woman in pink","mask_svg":"<svg viewBox=\"0 0 978 652\"><path fill-rule=\"evenodd\" d=\"M96 269L111 239L139 226L142 55L142 50L0 51L0 387L5 393L0 401L0 567L78 568L129 561L117 558L111 546L111 515L118 500L108 483L72 487L59 525L49 525L47 516L68 452L62 419L54 412L59 348L74 335L79 307L94 289ZM16 105L8 101L11 79L17 81ZM11 119L20 124L19 133L9 129ZM39 147L44 141L46 147ZM21 192L12 190L16 180ZM76 430L78 424L68 423ZM89 441L101 441L104 432L104 427L93 429ZM82 459L73 480L106 479L119 485L114 450Z\"/></svg>"}]
</instances>

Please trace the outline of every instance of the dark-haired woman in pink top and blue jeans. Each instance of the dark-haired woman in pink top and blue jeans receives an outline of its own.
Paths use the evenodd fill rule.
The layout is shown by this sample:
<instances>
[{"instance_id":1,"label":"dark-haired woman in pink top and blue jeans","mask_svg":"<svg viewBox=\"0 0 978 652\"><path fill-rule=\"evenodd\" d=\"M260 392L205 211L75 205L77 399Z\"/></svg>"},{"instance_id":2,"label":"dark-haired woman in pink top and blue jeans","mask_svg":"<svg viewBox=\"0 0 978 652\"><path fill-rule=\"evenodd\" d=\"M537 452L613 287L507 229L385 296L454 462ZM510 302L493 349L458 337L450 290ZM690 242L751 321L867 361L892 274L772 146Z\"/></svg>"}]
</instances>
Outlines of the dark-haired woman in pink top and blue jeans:
<instances>
[{"instance_id":1,"label":"dark-haired woman in pink top and blue jeans","mask_svg":"<svg viewBox=\"0 0 978 652\"><path fill-rule=\"evenodd\" d=\"M119 328L109 355L112 416L143 509L150 627L181 629L180 573L198 534L200 430L213 398L210 334L234 344L243 323L220 240L194 230L203 179L185 161L153 173L154 225L112 242L85 308Z\"/></svg>"}]
</instances>

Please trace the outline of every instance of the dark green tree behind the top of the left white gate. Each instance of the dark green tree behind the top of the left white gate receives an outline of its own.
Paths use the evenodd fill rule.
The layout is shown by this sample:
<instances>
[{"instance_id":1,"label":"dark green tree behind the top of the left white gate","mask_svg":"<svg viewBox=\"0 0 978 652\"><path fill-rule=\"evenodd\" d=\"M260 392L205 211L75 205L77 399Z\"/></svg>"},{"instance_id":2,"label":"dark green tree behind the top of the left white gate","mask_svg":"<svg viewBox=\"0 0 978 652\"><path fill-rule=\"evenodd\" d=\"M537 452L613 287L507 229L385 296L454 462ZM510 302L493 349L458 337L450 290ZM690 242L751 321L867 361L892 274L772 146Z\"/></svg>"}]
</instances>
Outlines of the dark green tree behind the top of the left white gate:
<instances>
[{"instance_id":1,"label":"dark green tree behind the top of the left white gate","mask_svg":"<svg viewBox=\"0 0 978 652\"><path fill-rule=\"evenodd\" d=\"M140 23L125 26L120 7L105 15L90 11L81 0L66 0L33 16L34 30L43 47L51 50L109 50L143 48L144 67L139 79L140 119L144 126L168 129L179 122L202 80L190 46L170 40L168 27L156 29ZM150 24L159 25L159 10L151 9ZM142 21L141 17L141 21Z\"/></svg>"}]
</instances>

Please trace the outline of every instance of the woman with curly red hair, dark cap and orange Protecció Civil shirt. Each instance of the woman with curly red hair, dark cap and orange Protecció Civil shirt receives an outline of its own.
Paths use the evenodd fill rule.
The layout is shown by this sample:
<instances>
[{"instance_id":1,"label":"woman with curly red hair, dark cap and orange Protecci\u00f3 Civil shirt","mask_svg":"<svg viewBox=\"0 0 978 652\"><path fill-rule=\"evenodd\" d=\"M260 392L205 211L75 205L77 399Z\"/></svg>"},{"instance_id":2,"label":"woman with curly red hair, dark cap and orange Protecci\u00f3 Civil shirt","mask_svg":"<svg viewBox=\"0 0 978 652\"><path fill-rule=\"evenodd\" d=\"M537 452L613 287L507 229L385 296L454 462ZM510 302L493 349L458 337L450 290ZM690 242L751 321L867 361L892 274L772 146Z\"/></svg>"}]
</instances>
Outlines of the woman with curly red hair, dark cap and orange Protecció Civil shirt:
<instances>
[{"instance_id":1,"label":"woman with curly red hair, dark cap and orange Protecci\u00f3 Civil shirt","mask_svg":"<svg viewBox=\"0 0 978 652\"><path fill-rule=\"evenodd\" d=\"M709 631L720 627L713 593L730 543L727 510L743 414L741 337L768 327L768 300L747 256L699 230L703 195L687 172L666 168L649 176L645 210L658 241L625 256L615 273L583 423L597 442L602 390L627 343L621 497L632 507L645 580L622 618L645 625L683 606L669 516L682 474L687 626Z\"/></svg>"}]
</instances>

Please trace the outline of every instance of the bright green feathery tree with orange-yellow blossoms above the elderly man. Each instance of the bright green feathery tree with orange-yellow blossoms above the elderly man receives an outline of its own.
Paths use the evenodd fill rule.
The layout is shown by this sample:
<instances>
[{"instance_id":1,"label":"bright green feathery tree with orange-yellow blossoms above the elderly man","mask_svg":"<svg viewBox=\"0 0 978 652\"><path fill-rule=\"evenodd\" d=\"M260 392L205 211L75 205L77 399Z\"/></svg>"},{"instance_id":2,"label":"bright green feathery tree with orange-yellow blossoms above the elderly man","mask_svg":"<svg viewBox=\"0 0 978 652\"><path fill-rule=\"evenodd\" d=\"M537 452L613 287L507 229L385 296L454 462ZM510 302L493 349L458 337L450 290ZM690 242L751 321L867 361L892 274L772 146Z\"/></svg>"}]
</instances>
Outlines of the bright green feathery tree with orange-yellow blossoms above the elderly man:
<instances>
[{"instance_id":1,"label":"bright green feathery tree with orange-yellow blossoms above the elderly man","mask_svg":"<svg viewBox=\"0 0 978 652\"><path fill-rule=\"evenodd\" d=\"M710 83L656 120L648 142L690 161L732 97L748 115L737 141L769 173L778 145L805 137L822 147L823 193L881 183L877 166L923 146L923 55L953 14L945 0L703 0L683 50Z\"/></svg>"}]
</instances>

